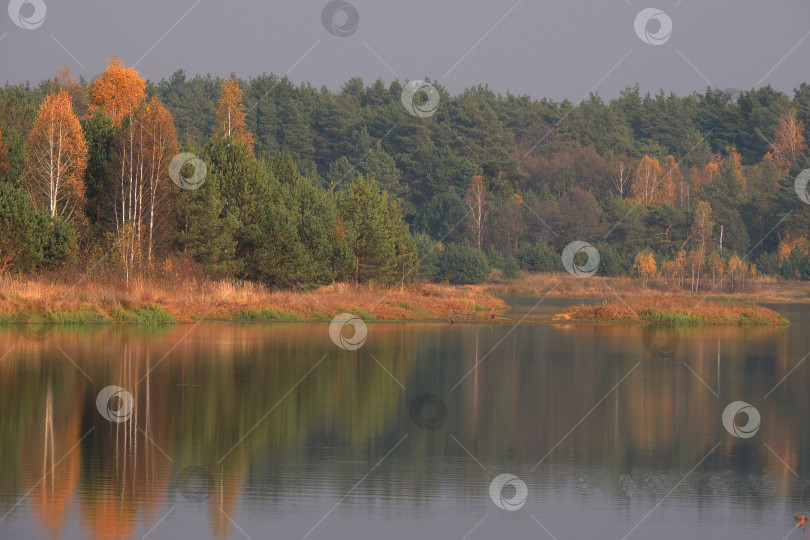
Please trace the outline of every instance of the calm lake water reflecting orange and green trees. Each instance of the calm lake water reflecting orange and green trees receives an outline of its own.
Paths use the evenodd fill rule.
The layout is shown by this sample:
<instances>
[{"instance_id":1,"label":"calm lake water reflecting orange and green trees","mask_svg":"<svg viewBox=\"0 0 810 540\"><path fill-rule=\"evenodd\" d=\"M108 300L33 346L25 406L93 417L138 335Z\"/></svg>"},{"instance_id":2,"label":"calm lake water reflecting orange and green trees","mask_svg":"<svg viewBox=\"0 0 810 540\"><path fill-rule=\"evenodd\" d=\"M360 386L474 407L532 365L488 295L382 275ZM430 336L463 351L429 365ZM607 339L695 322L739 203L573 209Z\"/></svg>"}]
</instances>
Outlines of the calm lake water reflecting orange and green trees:
<instances>
[{"instance_id":1,"label":"calm lake water reflecting orange and green trees","mask_svg":"<svg viewBox=\"0 0 810 540\"><path fill-rule=\"evenodd\" d=\"M0 538L802 538L810 306L769 307L792 325L371 322L355 350L3 327Z\"/></svg>"}]
</instances>

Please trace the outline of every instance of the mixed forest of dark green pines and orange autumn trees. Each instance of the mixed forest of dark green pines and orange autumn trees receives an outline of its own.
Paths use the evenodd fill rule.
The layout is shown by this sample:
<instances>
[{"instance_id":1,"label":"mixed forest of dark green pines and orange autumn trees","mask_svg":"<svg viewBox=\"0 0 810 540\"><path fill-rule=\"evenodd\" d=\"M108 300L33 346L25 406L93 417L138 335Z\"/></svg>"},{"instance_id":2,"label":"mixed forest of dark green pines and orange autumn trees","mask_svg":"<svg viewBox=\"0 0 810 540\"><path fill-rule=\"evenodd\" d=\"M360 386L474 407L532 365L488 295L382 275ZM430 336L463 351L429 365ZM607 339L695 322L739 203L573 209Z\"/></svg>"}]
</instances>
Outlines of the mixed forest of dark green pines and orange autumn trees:
<instances>
[{"instance_id":1,"label":"mixed forest of dark green pines and orange autumn trees","mask_svg":"<svg viewBox=\"0 0 810 540\"><path fill-rule=\"evenodd\" d=\"M645 284L810 279L806 83L580 103L420 85L152 82L116 58L7 83L0 275L467 284L564 271L583 241L599 275Z\"/></svg>"}]
</instances>

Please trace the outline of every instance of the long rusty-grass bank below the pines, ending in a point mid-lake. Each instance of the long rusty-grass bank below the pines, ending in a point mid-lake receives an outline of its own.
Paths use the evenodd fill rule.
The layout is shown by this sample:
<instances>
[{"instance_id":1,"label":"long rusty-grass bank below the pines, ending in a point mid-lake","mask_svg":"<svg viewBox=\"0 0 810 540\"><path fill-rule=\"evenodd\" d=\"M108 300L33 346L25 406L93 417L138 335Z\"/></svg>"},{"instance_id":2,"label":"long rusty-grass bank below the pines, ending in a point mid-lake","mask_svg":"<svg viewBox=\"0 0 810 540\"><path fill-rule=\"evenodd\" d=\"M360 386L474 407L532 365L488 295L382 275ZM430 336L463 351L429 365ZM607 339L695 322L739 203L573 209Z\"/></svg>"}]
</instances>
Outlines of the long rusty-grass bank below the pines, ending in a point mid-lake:
<instances>
[{"instance_id":1,"label":"long rusty-grass bank below the pines, ending in a point mid-lake","mask_svg":"<svg viewBox=\"0 0 810 540\"><path fill-rule=\"evenodd\" d=\"M338 313L364 320L488 320L506 304L480 287L336 284L313 291L271 291L231 281L97 284L0 278L0 324L165 324L200 319L318 321Z\"/></svg>"}]
</instances>

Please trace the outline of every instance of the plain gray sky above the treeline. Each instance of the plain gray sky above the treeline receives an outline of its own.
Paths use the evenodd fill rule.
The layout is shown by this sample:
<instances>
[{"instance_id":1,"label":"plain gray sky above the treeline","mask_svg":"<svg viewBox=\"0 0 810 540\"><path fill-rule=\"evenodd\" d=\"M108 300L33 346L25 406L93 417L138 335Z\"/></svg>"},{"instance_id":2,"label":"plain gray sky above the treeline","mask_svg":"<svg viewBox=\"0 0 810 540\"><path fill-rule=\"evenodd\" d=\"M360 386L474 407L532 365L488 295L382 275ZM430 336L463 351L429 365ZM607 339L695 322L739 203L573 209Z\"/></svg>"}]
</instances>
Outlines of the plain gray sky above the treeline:
<instances>
[{"instance_id":1,"label":"plain gray sky above the treeline","mask_svg":"<svg viewBox=\"0 0 810 540\"><path fill-rule=\"evenodd\" d=\"M92 79L113 54L153 81L179 68L289 72L293 81L337 89L352 76L387 83L396 73L436 79L452 93L486 83L575 102L591 89L610 98L635 82L685 94L709 83L791 92L810 81L807 0L350 0L360 21L346 37L322 24L324 0L36 1L47 11L35 29L0 11L0 81L34 84L63 65ZM660 45L634 29L650 6L672 21ZM22 7L24 17L35 11ZM643 28L655 36L659 22Z\"/></svg>"}]
</instances>

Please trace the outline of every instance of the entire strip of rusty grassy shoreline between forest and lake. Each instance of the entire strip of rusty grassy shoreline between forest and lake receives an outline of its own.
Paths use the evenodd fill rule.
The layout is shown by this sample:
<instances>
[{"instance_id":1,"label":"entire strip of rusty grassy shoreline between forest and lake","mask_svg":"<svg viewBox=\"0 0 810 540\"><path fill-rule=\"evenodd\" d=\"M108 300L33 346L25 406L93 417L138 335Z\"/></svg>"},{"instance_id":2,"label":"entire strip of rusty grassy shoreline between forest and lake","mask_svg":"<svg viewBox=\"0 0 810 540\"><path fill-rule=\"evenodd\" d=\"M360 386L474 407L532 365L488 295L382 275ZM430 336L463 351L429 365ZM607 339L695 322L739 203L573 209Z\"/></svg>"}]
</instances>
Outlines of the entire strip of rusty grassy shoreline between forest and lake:
<instances>
[{"instance_id":1,"label":"entire strip of rusty grassy shoreline between forest and lake","mask_svg":"<svg viewBox=\"0 0 810 540\"><path fill-rule=\"evenodd\" d=\"M129 284L85 283L74 290L67 283L41 277L7 277L0 279L0 327L201 321L328 322L339 313L352 313L366 322L779 326L788 322L758 304L810 302L807 292L810 284L774 280L760 285L756 291L711 295L642 288L625 278L582 280L567 274L533 274L504 282L493 274L490 281L479 286L416 283L387 288L373 284L333 284L311 291L270 291L256 283L189 279L175 283L139 280ZM784 295L784 292L793 294ZM621 294L627 295L628 300L622 300ZM553 315L521 318L509 316L510 306L504 300L509 298L602 299L604 302L561 307L560 312ZM703 309L702 315L694 313L689 305L697 300L708 309ZM629 308L628 301L636 304L635 309L625 309ZM669 312L650 316L636 313L656 309ZM705 317L712 313L716 315L714 318ZM764 319L760 320L762 317Z\"/></svg>"}]
</instances>

